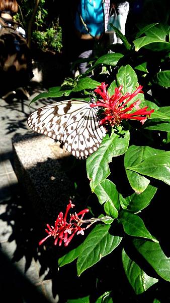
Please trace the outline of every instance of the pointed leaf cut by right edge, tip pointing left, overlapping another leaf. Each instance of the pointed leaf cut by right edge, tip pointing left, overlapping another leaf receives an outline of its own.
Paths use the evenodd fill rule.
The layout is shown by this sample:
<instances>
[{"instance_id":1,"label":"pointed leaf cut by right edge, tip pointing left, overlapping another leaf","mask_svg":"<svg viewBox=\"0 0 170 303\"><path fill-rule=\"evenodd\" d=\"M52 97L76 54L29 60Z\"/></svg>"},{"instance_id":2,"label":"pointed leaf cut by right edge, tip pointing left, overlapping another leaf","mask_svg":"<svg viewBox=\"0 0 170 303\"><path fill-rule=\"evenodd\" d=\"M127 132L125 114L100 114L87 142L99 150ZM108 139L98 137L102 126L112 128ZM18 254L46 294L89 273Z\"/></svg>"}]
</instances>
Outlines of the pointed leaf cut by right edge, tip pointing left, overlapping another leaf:
<instances>
[{"instance_id":1,"label":"pointed leaf cut by right edge, tip pointing left, overlapping another leaf","mask_svg":"<svg viewBox=\"0 0 170 303\"><path fill-rule=\"evenodd\" d=\"M127 169L170 185L170 151L162 151L158 155L143 160L138 165L127 167Z\"/></svg>"}]
</instances>

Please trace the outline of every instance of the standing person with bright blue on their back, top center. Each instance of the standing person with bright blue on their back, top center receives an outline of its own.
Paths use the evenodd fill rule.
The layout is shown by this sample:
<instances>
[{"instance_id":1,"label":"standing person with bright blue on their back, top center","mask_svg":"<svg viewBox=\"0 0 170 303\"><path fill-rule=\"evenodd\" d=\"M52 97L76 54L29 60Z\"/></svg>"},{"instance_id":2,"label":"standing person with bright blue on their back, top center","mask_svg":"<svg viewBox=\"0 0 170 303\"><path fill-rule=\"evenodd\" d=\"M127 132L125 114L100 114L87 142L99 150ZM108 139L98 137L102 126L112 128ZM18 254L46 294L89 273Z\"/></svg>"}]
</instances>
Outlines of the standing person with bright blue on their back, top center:
<instances>
[{"instance_id":1,"label":"standing person with bright blue on their back, top center","mask_svg":"<svg viewBox=\"0 0 170 303\"><path fill-rule=\"evenodd\" d=\"M89 16L87 15L87 20L83 20L80 17L81 7L88 11L90 5L92 11L89 12ZM76 65L79 74L87 71L90 59L95 56L95 50L107 29L109 10L110 0L72 0L67 3L66 9L60 6L63 57L70 66L72 62L81 61ZM92 28L96 28L96 33L95 31L92 33ZM75 76L75 71L76 68L73 68L71 76Z\"/></svg>"}]
</instances>

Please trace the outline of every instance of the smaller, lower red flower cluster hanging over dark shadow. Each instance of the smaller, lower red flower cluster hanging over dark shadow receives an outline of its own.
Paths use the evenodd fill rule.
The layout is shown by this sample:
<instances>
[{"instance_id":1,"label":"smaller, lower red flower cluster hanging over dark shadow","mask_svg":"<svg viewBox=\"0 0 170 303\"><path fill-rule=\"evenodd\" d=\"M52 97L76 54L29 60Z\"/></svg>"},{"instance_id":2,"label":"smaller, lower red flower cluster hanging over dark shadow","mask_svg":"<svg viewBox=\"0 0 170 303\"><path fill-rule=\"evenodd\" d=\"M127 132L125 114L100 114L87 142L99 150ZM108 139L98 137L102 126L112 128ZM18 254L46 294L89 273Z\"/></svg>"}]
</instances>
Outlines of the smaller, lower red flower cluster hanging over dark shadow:
<instances>
[{"instance_id":1,"label":"smaller, lower red flower cluster hanging over dark shadow","mask_svg":"<svg viewBox=\"0 0 170 303\"><path fill-rule=\"evenodd\" d=\"M72 204L71 201L69 201L69 204L66 207L65 215L63 216L63 213L60 212L55 221L54 226L50 226L49 224L47 224L48 229L45 229L45 231L48 234L48 236L42 239L39 242L39 245L41 245L47 238L53 236L55 239L54 245L57 245L58 243L58 245L61 246L62 242L64 242L64 246L67 246L75 234L82 234L82 235L84 234L84 229L86 228L81 228L80 225L83 223L82 222L83 216L89 212L89 209L85 209L79 212L78 214L75 213L70 215L70 220L68 223L66 221L68 211L70 210L70 208L73 208L74 206L75 205ZM80 215L81 217L78 218L78 216Z\"/></svg>"}]
</instances>

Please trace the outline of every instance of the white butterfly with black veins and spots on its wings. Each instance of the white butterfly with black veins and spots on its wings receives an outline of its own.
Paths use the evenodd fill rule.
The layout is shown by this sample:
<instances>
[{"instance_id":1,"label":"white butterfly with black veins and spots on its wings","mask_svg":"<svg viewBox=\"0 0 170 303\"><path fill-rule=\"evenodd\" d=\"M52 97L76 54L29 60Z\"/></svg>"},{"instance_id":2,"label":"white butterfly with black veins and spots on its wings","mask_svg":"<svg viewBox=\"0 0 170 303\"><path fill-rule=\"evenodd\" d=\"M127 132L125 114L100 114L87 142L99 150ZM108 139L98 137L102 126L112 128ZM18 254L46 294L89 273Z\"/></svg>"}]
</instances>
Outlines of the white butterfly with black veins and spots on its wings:
<instances>
[{"instance_id":1,"label":"white butterfly with black veins and spots on its wings","mask_svg":"<svg viewBox=\"0 0 170 303\"><path fill-rule=\"evenodd\" d=\"M84 100L64 100L48 104L33 112L28 126L37 133L63 142L73 156L83 159L96 151L106 131L100 125L98 109Z\"/></svg>"}]
</instances>

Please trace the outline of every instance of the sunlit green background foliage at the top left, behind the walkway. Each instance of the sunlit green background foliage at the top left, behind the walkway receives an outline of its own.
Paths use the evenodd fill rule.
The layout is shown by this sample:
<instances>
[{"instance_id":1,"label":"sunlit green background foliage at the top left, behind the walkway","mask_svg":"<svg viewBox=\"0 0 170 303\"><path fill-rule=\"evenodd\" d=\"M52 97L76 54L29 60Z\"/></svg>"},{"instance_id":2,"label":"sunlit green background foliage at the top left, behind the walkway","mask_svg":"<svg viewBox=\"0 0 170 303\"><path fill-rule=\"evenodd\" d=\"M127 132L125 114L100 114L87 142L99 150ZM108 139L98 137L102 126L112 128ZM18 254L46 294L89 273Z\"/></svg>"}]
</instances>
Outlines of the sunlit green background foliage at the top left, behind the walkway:
<instances>
[{"instance_id":1,"label":"sunlit green background foliage at the top left, behind the walkway","mask_svg":"<svg viewBox=\"0 0 170 303\"><path fill-rule=\"evenodd\" d=\"M17 19L24 25L26 32L32 17L34 1L19 0ZM32 25L32 47L42 51L60 52L62 47L61 27L58 24L58 10L55 1L40 0Z\"/></svg>"}]
</instances>

